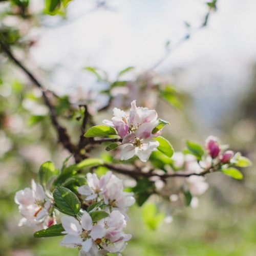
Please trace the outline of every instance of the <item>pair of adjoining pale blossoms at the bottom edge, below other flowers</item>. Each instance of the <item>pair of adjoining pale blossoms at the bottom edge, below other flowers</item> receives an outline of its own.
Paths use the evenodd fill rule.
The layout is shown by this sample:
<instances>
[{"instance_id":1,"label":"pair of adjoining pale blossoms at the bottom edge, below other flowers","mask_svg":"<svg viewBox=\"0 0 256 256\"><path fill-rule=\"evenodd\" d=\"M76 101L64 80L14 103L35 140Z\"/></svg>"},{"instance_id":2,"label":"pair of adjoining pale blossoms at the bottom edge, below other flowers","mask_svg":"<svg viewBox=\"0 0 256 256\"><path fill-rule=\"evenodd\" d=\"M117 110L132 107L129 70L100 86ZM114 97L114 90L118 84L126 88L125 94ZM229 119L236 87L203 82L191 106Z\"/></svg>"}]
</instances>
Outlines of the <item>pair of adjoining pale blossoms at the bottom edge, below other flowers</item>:
<instances>
[{"instance_id":1,"label":"pair of adjoining pale blossoms at the bottom edge, below other flowers","mask_svg":"<svg viewBox=\"0 0 256 256\"><path fill-rule=\"evenodd\" d=\"M88 212L84 212L81 221L74 217L63 216L61 223L66 236L60 244L79 248L79 256L105 255L107 252L120 252L125 248L126 241L131 239L125 234L124 216L119 211L112 211L109 217L93 224Z\"/></svg>"}]
</instances>

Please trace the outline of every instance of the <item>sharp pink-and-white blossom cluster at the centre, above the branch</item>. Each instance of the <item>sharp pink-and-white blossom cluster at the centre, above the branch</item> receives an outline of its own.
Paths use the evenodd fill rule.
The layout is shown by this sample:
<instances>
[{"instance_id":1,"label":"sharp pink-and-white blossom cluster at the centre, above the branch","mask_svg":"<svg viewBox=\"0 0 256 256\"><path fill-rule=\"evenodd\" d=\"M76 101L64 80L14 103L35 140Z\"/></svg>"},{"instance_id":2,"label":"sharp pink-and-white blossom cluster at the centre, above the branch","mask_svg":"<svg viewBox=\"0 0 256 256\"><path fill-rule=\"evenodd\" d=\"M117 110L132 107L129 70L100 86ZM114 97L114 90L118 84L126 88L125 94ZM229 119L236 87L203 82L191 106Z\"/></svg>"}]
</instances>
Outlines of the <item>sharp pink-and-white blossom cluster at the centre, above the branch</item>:
<instances>
[{"instance_id":1,"label":"sharp pink-and-white blossom cluster at the centre, above the branch","mask_svg":"<svg viewBox=\"0 0 256 256\"><path fill-rule=\"evenodd\" d=\"M137 107L135 100L131 105L129 113L114 108L112 120L103 120L103 123L115 127L122 139L121 160L136 155L141 161L146 162L151 152L159 146L159 142L154 140L154 137L159 136L161 130L152 133L158 125L158 115L155 110Z\"/></svg>"}]
</instances>

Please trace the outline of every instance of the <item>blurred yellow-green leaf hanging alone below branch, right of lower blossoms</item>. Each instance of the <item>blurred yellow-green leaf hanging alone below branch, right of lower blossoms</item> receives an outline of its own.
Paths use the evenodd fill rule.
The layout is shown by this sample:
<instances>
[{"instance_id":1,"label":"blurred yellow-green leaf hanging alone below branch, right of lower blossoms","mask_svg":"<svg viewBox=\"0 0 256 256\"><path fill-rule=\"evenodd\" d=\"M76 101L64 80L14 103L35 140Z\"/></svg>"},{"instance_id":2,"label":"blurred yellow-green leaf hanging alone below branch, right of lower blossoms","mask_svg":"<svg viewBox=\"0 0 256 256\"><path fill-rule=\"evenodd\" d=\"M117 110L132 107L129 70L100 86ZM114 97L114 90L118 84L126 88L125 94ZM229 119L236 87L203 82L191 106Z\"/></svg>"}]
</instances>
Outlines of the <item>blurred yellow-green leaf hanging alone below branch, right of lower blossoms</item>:
<instances>
[{"instance_id":1,"label":"blurred yellow-green leaf hanging alone below branch, right of lower blossoms","mask_svg":"<svg viewBox=\"0 0 256 256\"><path fill-rule=\"evenodd\" d=\"M157 213L154 203L146 203L142 206L142 219L148 228L155 230L164 219L163 212Z\"/></svg>"}]
</instances>

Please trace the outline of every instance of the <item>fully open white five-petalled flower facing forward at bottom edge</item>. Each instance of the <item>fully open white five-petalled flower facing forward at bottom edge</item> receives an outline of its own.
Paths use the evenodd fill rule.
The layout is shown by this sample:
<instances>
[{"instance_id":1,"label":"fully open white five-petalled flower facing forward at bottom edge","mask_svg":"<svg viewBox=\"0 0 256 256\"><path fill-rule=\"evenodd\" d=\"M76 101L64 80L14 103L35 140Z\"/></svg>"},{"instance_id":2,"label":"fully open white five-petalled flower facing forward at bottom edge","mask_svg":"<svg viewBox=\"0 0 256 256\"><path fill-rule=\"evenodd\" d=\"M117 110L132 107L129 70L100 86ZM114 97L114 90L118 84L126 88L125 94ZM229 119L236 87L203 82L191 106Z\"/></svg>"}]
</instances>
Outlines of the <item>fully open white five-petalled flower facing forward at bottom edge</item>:
<instances>
[{"instance_id":1,"label":"fully open white five-petalled flower facing forward at bottom edge","mask_svg":"<svg viewBox=\"0 0 256 256\"><path fill-rule=\"evenodd\" d=\"M84 212L81 217L81 223L71 216L63 216L61 223L66 236L60 241L61 245L67 247L78 247L81 250L80 255L94 255L95 241L103 238L105 229L101 225L93 225L92 218L88 212ZM95 255L98 255L95 253Z\"/></svg>"}]
</instances>

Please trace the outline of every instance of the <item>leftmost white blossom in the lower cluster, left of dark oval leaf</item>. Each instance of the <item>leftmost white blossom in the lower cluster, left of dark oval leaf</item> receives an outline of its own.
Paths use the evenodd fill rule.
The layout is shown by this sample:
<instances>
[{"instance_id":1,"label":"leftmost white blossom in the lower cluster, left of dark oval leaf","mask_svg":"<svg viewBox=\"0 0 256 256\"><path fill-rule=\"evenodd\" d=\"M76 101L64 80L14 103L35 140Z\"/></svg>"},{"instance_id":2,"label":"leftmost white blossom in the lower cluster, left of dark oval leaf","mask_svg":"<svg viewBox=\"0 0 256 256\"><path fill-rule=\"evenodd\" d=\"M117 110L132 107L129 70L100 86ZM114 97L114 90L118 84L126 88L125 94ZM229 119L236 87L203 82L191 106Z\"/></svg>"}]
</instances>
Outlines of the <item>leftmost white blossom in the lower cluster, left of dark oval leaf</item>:
<instances>
[{"instance_id":1,"label":"leftmost white blossom in the lower cluster, left of dark oval leaf","mask_svg":"<svg viewBox=\"0 0 256 256\"><path fill-rule=\"evenodd\" d=\"M20 214L24 217L19 225L34 227L42 224L48 217L51 202L46 198L41 185L32 180L32 189L25 188L15 194L15 203L19 205Z\"/></svg>"}]
</instances>

